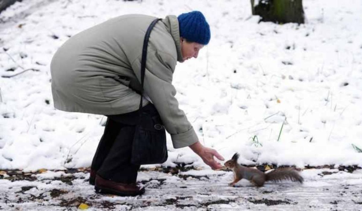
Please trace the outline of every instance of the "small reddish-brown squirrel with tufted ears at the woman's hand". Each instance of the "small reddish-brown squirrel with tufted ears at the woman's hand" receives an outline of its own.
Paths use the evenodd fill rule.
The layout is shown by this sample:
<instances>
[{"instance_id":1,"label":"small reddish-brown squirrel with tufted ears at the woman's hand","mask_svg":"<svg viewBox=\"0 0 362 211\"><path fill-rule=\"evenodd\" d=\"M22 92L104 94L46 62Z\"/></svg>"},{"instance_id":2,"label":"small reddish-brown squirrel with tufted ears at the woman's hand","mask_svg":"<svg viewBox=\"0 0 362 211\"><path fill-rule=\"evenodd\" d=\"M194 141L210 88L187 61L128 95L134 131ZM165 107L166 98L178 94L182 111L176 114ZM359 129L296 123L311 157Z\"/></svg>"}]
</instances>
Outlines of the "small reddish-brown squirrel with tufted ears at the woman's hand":
<instances>
[{"instance_id":1,"label":"small reddish-brown squirrel with tufted ears at the woman's hand","mask_svg":"<svg viewBox=\"0 0 362 211\"><path fill-rule=\"evenodd\" d=\"M229 186L235 186L241 179L247 179L251 181L257 187L264 185L265 181L281 181L283 179L290 179L294 182L303 183L303 177L299 175L298 171L290 168L275 169L269 173L263 173L258 169L252 169L245 166L241 166L237 163L239 154L235 153L231 160L225 162L225 167L232 169L234 172L234 181L229 183Z\"/></svg>"}]
</instances>

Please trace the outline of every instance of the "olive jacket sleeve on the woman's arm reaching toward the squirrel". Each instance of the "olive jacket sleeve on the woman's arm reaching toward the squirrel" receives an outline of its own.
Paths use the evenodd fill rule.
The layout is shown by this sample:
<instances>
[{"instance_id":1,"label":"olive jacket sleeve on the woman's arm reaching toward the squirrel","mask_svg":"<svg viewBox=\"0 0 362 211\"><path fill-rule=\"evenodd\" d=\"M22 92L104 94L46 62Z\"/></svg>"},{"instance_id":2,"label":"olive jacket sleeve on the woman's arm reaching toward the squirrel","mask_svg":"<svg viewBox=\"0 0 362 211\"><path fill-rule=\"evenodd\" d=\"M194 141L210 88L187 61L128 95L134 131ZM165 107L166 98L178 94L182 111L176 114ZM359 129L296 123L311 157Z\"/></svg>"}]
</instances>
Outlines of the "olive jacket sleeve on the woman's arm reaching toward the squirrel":
<instances>
[{"instance_id":1,"label":"olive jacket sleeve on the woman's arm reaching toward the squirrel","mask_svg":"<svg viewBox=\"0 0 362 211\"><path fill-rule=\"evenodd\" d=\"M142 55L132 63L132 69L139 81L141 57ZM182 148L197 142L198 137L185 113L178 108L177 99L174 97L176 89L171 83L176 62L167 52L148 50L143 88L171 135L173 147Z\"/></svg>"}]
</instances>

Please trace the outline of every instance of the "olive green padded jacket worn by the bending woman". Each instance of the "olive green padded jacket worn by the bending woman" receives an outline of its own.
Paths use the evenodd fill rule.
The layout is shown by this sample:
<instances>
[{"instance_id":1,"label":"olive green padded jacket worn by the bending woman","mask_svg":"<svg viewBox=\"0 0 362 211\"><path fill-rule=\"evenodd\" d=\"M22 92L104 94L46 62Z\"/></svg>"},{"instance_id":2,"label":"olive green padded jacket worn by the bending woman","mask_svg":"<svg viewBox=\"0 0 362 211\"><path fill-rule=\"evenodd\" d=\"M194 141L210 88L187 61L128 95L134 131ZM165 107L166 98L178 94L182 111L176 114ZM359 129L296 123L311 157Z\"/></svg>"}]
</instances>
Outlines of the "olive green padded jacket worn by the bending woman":
<instances>
[{"instance_id":1,"label":"olive green padded jacket worn by the bending woman","mask_svg":"<svg viewBox=\"0 0 362 211\"><path fill-rule=\"evenodd\" d=\"M138 110L143 39L155 18L119 16L66 41L50 66L55 108L101 115ZM174 97L177 61L182 61L180 33L177 17L170 15L157 22L150 35L144 94L160 113L174 148L181 148L198 138Z\"/></svg>"}]
</instances>

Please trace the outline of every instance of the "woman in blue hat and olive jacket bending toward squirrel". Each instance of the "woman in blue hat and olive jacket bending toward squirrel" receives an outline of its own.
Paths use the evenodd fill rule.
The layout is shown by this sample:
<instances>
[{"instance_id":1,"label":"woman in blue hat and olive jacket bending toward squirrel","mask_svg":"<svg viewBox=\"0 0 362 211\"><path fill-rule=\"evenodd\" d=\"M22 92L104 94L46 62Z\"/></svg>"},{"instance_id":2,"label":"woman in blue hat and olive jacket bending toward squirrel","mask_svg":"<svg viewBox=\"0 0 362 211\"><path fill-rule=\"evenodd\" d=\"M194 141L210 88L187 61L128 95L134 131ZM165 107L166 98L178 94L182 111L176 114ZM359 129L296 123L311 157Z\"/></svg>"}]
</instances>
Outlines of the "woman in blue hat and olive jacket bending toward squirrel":
<instances>
[{"instance_id":1,"label":"woman in blue hat and olive jacket bending toward squirrel","mask_svg":"<svg viewBox=\"0 0 362 211\"><path fill-rule=\"evenodd\" d=\"M108 116L89 180L104 193L144 193L135 183L140 166L131 164L130 157L141 91L143 39L154 19L123 15L103 22L71 37L51 62L55 108ZM189 146L212 169L218 169L221 165L214 156L223 157L198 141L178 108L172 85L177 61L197 58L209 41L210 27L201 12L169 15L157 22L148 42L143 110L159 113L174 148Z\"/></svg>"}]
</instances>

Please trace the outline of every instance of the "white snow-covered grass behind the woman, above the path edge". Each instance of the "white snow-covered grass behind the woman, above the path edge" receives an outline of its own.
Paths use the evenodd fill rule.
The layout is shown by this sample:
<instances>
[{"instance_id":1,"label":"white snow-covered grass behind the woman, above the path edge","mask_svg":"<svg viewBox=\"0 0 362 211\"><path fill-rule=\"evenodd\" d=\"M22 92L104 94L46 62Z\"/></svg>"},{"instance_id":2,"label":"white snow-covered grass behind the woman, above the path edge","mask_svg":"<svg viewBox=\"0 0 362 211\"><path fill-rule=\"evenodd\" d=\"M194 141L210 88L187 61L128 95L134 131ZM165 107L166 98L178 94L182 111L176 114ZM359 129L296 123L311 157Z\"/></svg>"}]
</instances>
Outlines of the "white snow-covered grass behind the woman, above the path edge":
<instances>
[{"instance_id":1,"label":"white snow-covered grass behind the woman, above the path edge","mask_svg":"<svg viewBox=\"0 0 362 211\"><path fill-rule=\"evenodd\" d=\"M70 36L123 14L191 10L204 13L212 37L199 58L178 63L173 84L203 145L226 159L239 152L245 165L362 166L352 146L362 148L362 5L303 6L306 24L278 25L258 24L240 0L15 3L0 14L0 75L38 71L0 78L0 169L90 166L105 117L58 111L51 96L50 61ZM163 165L210 169L169 136L167 145Z\"/></svg>"}]
</instances>

